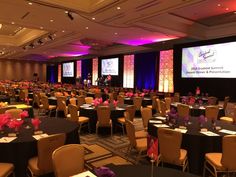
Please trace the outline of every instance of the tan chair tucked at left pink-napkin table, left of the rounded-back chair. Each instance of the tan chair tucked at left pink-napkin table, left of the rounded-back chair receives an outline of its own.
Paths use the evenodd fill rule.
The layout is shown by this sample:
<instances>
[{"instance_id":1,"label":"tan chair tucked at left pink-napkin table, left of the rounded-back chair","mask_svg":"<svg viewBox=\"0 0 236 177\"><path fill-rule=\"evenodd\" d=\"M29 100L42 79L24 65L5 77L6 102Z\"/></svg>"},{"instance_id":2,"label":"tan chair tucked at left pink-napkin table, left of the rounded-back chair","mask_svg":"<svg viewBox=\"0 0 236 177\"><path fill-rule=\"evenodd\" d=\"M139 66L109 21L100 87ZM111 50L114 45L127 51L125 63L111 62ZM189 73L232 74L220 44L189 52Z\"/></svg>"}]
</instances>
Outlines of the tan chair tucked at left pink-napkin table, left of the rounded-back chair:
<instances>
[{"instance_id":1,"label":"tan chair tucked at left pink-napkin table, left of the rounded-back chair","mask_svg":"<svg viewBox=\"0 0 236 177\"><path fill-rule=\"evenodd\" d=\"M65 134L54 134L38 140L38 156L28 161L31 176L41 176L53 172L52 153L64 145L65 138Z\"/></svg>"}]
</instances>

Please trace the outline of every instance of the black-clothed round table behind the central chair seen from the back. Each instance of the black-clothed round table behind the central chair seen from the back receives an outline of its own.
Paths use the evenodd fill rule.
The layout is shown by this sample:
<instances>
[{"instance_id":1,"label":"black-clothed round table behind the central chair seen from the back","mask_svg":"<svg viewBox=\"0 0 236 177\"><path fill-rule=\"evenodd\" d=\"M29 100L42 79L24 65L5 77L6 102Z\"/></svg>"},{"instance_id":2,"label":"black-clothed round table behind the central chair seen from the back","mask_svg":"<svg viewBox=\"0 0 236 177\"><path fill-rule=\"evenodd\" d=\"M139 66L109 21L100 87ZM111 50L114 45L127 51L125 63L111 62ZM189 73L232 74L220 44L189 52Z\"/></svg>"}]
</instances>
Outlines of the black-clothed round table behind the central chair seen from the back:
<instances>
[{"instance_id":1,"label":"black-clothed round table behind the central chair seen from the back","mask_svg":"<svg viewBox=\"0 0 236 177\"><path fill-rule=\"evenodd\" d=\"M85 104L86 106L80 106L80 116L86 116L89 117L89 126L91 133L94 133L96 131L96 123L97 123L97 109L93 106L89 106ZM128 106L126 104L124 105L118 105L118 107L114 107L112 104L109 105L111 108L111 119L112 119L112 125L113 125L113 132L115 132L115 125L117 123L117 119L120 117L124 117L125 108Z\"/></svg>"}]
</instances>

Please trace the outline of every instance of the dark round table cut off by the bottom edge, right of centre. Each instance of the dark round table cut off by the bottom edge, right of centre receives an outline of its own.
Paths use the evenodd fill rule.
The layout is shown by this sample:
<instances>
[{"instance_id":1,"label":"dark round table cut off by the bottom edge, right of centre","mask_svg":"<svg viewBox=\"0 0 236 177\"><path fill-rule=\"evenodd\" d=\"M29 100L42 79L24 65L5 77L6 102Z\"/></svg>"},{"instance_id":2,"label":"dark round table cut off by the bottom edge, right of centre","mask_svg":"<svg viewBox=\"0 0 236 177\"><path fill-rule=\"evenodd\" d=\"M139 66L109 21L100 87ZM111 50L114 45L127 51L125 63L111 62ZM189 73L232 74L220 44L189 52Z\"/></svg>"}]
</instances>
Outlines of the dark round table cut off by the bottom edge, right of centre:
<instances>
[{"instance_id":1,"label":"dark round table cut off by the bottom edge, right of centre","mask_svg":"<svg viewBox=\"0 0 236 177\"><path fill-rule=\"evenodd\" d=\"M148 177L151 176L151 165L109 165L108 166L116 177ZM153 177L198 177L196 175L185 173L171 168L156 167L154 165Z\"/></svg>"}]
</instances>

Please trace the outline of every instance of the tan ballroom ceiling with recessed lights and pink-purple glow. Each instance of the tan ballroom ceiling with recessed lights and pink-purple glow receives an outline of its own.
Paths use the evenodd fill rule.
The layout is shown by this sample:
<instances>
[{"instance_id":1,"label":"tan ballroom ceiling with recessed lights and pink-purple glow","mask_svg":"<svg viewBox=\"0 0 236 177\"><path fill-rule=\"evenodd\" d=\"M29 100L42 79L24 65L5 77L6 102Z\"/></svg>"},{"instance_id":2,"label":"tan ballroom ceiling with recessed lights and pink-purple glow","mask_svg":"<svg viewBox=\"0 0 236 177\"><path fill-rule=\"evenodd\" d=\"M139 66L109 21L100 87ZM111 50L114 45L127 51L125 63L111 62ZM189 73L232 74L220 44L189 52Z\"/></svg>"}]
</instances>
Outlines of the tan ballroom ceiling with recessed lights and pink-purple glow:
<instances>
[{"instance_id":1,"label":"tan ballroom ceiling with recessed lights and pink-purple glow","mask_svg":"<svg viewBox=\"0 0 236 177\"><path fill-rule=\"evenodd\" d=\"M235 0L1 0L0 58L158 50L235 28Z\"/></svg>"}]
</instances>

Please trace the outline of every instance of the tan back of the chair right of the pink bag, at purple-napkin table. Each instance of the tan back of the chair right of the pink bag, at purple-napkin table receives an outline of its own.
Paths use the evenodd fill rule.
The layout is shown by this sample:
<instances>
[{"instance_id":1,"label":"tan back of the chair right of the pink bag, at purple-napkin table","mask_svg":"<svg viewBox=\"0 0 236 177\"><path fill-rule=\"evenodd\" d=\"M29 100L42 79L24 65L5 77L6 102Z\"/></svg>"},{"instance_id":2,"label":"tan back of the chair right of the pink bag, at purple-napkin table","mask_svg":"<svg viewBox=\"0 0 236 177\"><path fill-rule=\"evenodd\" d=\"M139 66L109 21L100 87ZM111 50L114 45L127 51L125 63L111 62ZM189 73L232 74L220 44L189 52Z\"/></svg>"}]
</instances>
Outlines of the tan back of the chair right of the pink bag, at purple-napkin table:
<instances>
[{"instance_id":1,"label":"tan back of the chair right of the pink bag, at purple-napkin table","mask_svg":"<svg viewBox=\"0 0 236 177\"><path fill-rule=\"evenodd\" d=\"M167 128L158 128L161 161L176 163L180 157L182 134Z\"/></svg>"}]
</instances>

